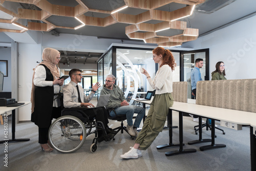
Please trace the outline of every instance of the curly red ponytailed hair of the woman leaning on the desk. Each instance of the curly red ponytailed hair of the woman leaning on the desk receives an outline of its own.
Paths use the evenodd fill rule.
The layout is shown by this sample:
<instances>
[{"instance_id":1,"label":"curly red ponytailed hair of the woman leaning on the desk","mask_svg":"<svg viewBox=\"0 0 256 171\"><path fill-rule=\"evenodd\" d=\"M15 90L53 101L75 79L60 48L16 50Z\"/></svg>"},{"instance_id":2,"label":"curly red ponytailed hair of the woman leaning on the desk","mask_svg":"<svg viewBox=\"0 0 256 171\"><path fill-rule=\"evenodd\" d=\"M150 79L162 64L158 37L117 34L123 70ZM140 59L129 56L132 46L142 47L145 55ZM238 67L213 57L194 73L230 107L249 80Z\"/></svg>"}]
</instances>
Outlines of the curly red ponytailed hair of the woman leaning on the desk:
<instances>
[{"instance_id":1,"label":"curly red ponytailed hair of the woman leaning on the desk","mask_svg":"<svg viewBox=\"0 0 256 171\"><path fill-rule=\"evenodd\" d=\"M170 68L172 68L172 71L174 71L176 67L175 59L172 54L168 49L164 49L162 47L157 47L156 49L153 50L153 53L156 55L162 55L163 56L163 62L159 68L161 68L163 65L168 65Z\"/></svg>"}]
</instances>

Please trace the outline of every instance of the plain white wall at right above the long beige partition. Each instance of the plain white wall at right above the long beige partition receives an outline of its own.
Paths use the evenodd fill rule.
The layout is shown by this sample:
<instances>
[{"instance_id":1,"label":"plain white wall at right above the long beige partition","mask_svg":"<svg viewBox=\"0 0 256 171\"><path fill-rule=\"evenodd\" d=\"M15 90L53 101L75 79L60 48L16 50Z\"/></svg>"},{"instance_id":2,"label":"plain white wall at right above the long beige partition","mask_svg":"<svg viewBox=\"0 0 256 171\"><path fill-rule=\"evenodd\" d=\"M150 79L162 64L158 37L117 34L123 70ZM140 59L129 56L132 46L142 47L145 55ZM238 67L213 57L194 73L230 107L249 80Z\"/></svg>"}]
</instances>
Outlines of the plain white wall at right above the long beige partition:
<instances>
[{"instance_id":1,"label":"plain white wall at right above the long beige partition","mask_svg":"<svg viewBox=\"0 0 256 171\"><path fill-rule=\"evenodd\" d=\"M256 16L215 31L182 47L209 48L209 70L218 61L225 63L227 79L256 78ZM211 79L211 74L210 74Z\"/></svg>"}]
</instances>

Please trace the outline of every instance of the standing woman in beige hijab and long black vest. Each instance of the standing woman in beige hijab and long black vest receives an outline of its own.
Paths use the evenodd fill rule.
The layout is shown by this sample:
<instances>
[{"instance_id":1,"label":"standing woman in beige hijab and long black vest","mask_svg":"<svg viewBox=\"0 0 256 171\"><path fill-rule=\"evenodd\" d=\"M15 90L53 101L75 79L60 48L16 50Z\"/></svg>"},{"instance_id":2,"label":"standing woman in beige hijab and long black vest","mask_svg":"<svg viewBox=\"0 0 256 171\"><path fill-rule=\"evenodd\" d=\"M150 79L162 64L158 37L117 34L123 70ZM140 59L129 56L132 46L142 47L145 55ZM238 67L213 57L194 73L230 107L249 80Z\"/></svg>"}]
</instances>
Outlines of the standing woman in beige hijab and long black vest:
<instances>
[{"instance_id":1,"label":"standing woman in beige hijab and long black vest","mask_svg":"<svg viewBox=\"0 0 256 171\"><path fill-rule=\"evenodd\" d=\"M49 145L48 130L53 118L61 115L60 99L54 96L59 93L64 79L59 79L60 70L56 66L60 61L59 51L45 48L42 62L33 73L31 90L31 121L38 126L38 142L45 152L52 152Z\"/></svg>"}]
</instances>

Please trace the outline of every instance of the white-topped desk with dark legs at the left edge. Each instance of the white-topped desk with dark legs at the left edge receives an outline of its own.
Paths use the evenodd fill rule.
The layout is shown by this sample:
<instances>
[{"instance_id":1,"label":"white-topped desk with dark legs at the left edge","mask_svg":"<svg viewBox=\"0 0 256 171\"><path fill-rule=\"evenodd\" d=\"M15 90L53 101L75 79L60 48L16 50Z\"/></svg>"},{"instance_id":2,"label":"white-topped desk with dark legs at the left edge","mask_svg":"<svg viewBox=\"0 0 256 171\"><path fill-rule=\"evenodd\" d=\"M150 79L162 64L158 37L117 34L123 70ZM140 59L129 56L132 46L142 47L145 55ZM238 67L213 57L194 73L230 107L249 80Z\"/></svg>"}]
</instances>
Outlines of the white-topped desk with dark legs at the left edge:
<instances>
[{"instance_id":1,"label":"white-topped desk with dark legs at the left edge","mask_svg":"<svg viewBox=\"0 0 256 171\"><path fill-rule=\"evenodd\" d=\"M28 105L29 103L31 103L30 101L24 101L25 104L23 105L19 105L19 106L15 106L15 107L6 107L6 106L1 106L0 107L0 114L5 115L6 112L12 111L12 139L6 139L4 138L3 141L0 141L0 143L4 143L6 141L10 142L21 142L21 141L29 141L29 138L22 138L22 139L15 139L15 110ZM9 127L9 126L8 126Z\"/></svg>"}]
</instances>

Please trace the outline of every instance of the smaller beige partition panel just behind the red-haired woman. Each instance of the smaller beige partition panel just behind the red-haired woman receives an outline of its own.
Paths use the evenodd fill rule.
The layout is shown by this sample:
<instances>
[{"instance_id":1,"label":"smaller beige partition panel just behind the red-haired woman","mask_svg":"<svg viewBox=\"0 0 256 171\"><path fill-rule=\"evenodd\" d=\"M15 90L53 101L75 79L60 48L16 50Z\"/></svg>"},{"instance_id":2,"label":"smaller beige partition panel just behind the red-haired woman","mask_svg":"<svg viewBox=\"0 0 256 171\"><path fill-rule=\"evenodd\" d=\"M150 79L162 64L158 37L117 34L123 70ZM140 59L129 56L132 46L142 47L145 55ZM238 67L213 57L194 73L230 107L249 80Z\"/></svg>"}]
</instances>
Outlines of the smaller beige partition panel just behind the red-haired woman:
<instances>
[{"instance_id":1,"label":"smaller beige partition panel just behind the red-haired woman","mask_svg":"<svg viewBox=\"0 0 256 171\"><path fill-rule=\"evenodd\" d=\"M173 82L174 101L187 102L187 81Z\"/></svg>"}]
</instances>

